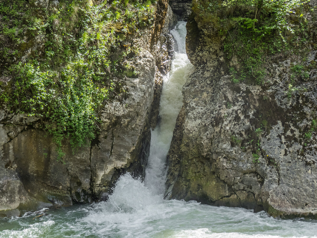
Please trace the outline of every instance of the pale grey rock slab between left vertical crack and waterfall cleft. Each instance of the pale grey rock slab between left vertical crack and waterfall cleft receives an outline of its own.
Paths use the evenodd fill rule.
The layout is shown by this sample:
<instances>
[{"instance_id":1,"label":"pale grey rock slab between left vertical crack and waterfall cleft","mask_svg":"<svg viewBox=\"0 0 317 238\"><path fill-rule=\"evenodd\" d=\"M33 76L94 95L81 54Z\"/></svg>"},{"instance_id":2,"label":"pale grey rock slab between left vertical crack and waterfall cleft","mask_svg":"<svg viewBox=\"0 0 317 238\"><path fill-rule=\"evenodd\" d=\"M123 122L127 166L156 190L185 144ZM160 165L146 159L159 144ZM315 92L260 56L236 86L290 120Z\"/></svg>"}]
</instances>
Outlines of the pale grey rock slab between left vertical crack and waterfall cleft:
<instances>
[{"instance_id":1,"label":"pale grey rock slab between left vertical crack and waterfall cleft","mask_svg":"<svg viewBox=\"0 0 317 238\"><path fill-rule=\"evenodd\" d=\"M102 110L102 132L92 147L92 183L94 194L109 192L117 176L125 171L142 171L146 165L151 132L150 106L154 93L155 61L148 52L141 52L133 63L138 78L127 79L128 97L113 102Z\"/></svg>"}]
</instances>

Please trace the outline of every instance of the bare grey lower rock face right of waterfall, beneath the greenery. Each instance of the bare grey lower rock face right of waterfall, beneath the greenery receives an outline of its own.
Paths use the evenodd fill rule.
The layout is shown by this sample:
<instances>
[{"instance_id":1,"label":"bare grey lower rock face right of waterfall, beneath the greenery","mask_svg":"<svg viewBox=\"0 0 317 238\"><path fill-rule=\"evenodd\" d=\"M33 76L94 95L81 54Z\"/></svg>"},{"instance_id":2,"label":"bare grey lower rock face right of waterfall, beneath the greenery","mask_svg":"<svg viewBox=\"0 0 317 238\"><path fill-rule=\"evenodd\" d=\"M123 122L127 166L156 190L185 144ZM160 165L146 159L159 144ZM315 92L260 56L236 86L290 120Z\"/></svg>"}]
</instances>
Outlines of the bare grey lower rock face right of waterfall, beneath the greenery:
<instances>
[{"instance_id":1,"label":"bare grey lower rock face right of waterfall, beneath the greenery","mask_svg":"<svg viewBox=\"0 0 317 238\"><path fill-rule=\"evenodd\" d=\"M288 99L282 82L273 90L194 73L168 155L170 197L316 216L316 132L309 130L317 84L311 78L303 87Z\"/></svg>"}]
</instances>

